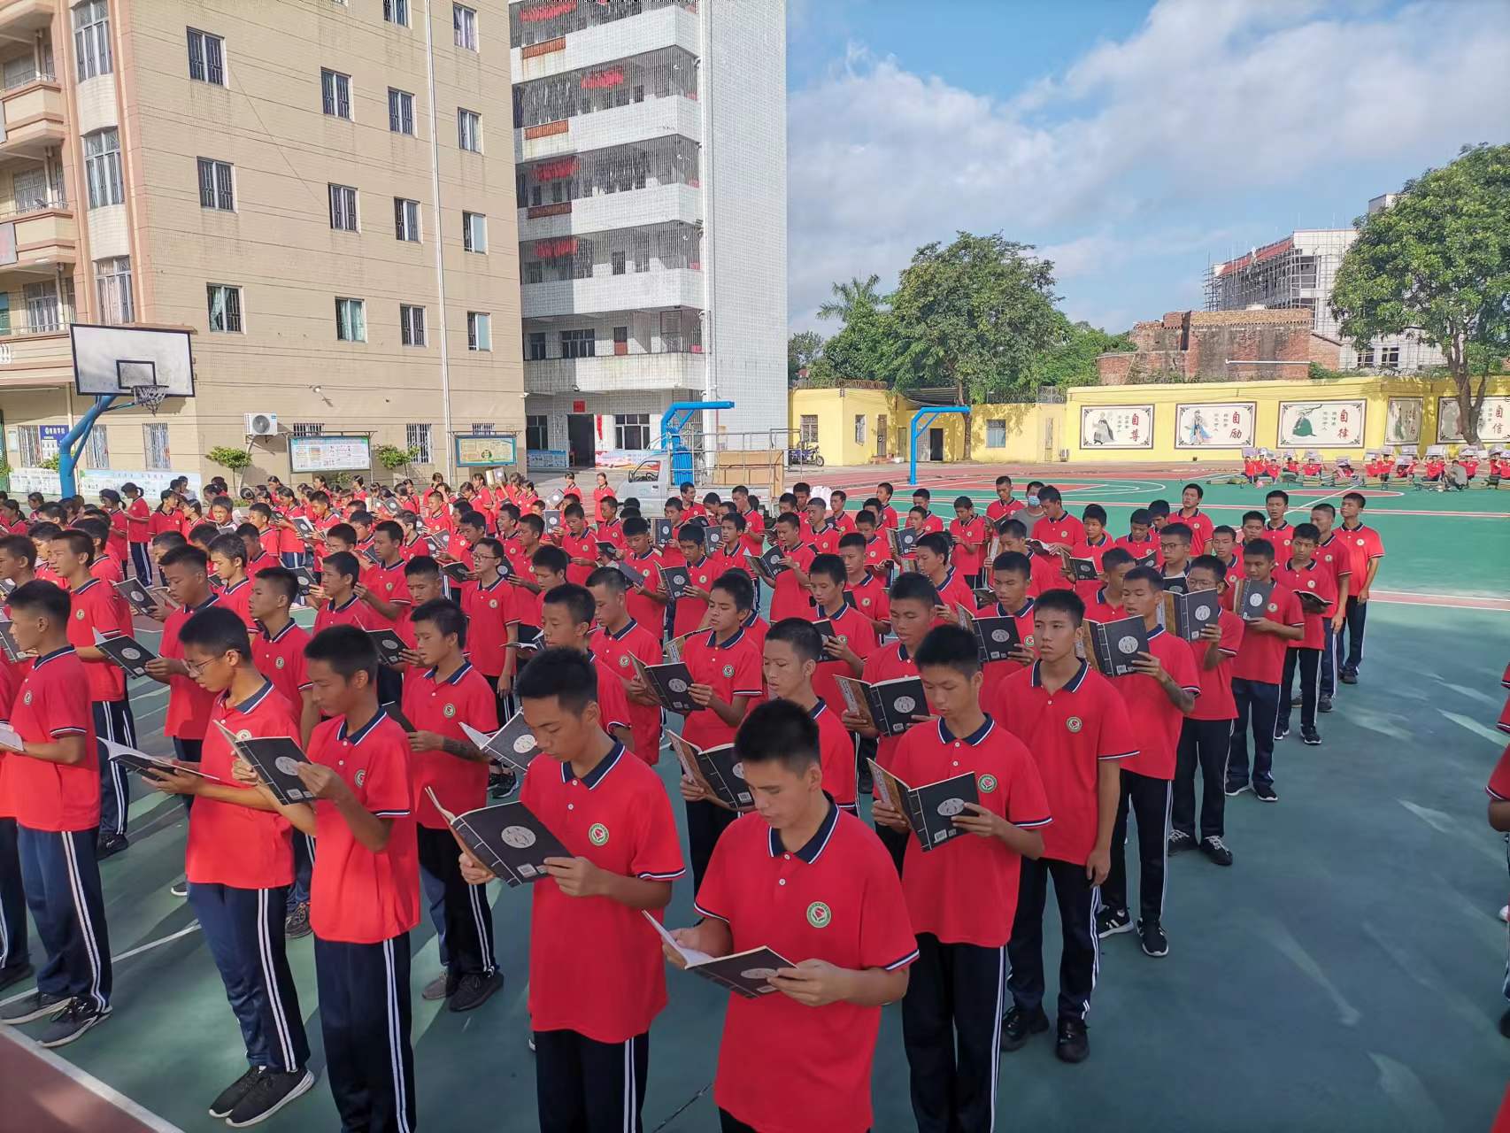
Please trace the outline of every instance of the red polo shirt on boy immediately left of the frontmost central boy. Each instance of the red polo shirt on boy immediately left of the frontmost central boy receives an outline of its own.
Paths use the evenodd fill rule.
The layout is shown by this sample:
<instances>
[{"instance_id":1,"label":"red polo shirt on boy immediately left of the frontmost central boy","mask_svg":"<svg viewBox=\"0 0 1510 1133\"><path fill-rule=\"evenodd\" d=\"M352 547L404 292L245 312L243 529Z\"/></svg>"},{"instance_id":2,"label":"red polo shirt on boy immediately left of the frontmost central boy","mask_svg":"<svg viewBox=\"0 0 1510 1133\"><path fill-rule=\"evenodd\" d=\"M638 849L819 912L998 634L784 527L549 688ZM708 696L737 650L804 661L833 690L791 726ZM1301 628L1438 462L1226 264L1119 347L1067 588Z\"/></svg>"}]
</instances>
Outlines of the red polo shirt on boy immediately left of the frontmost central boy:
<instances>
[{"instance_id":1,"label":"red polo shirt on boy immediately left of the frontmost central boy","mask_svg":"<svg viewBox=\"0 0 1510 1133\"><path fill-rule=\"evenodd\" d=\"M571 763L536 755L519 801L574 857L610 873L669 882L686 872L666 787L621 745L580 780ZM595 1042L649 1030L666 1006L666 962L640 911L568 897L553 878L532 888L530 1027Z\"/></svg>"}]
</instances>

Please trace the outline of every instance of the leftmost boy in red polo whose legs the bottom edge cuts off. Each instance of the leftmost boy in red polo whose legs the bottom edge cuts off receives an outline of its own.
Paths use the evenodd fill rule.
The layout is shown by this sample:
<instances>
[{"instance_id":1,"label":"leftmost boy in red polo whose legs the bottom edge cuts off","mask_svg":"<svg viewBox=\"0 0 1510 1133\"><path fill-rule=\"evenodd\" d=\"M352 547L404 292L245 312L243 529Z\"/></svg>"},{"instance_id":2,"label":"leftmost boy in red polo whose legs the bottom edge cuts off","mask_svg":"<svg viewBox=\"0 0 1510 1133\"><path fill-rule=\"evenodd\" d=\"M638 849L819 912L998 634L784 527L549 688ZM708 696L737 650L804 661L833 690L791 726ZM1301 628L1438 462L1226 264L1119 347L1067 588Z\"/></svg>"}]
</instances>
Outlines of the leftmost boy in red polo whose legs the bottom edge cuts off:
<instances>
[{"instance_id":1,"label":"leftmost boy in red polo whose legs the bottom edge cuts off","mask_svg":"<svg viewBox=\"0 0 1510 1133\"><path fill-rule=\"evenodd\" d=\"M420 920L409 737L378 707L378 651L365 633L334 625L305 657L329 718L299 764L316 801L276 805L319 846L310 914L326 1077L343 1128L408 1130L409 929ZM237 764L243 783L249 772Z\"/></svg>"}]
</instances>

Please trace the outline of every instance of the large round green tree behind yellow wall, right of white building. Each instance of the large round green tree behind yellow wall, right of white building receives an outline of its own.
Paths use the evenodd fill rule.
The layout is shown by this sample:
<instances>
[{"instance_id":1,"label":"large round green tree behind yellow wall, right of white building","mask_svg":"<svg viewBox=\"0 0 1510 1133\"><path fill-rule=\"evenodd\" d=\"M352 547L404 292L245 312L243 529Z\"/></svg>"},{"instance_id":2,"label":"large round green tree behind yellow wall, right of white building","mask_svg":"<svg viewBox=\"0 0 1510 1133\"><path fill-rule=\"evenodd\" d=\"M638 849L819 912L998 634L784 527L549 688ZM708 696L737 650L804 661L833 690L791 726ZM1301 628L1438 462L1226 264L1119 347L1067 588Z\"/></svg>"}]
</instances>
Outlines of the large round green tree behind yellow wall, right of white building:
<instances>
[{"instance_id":1,"label":"large round green tree behind yellow wall, right of white building","mask_svg":"<svg viewBox=\"0 0 1510 1133\"><path fill-rule=\"evenodd\" d=\"M891 296L898 390L945 385L972 405L1034 384L1039 357L1066 340L1068 322L1054 310L1054 264L1031 252L1000 233L959 233L914 254Z\"/></svg>"}]
</instances>

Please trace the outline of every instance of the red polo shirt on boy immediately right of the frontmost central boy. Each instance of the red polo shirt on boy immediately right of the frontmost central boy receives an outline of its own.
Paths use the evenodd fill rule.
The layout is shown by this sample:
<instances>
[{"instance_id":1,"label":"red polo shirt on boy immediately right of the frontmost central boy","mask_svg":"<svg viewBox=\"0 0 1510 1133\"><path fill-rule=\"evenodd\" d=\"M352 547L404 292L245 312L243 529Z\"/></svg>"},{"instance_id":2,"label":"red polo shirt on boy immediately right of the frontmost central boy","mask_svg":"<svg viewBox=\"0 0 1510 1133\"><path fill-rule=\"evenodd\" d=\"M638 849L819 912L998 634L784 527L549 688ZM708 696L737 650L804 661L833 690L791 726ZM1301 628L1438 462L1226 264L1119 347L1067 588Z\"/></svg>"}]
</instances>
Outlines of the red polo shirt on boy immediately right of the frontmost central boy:
<instances>
[{"instance_id":1,"label":"red polo shirt on boy immediately right of the frontmost central boy","mask_svg":"<svg viewBox=\"0 0 1510 1133\"><path fill-rule=\"evenodd\" d=\"M1051 822L1033 757L989 716L969 736L954 736L944 721L920 724L901 737L891 770L914 787L974 772L980 805L992 814L1024 829ZM1000 838L966 834L924 854L909 834L901 891L912 931L1000 949L1012 935L1021 866Z\"/></svg>"}]
</instances>

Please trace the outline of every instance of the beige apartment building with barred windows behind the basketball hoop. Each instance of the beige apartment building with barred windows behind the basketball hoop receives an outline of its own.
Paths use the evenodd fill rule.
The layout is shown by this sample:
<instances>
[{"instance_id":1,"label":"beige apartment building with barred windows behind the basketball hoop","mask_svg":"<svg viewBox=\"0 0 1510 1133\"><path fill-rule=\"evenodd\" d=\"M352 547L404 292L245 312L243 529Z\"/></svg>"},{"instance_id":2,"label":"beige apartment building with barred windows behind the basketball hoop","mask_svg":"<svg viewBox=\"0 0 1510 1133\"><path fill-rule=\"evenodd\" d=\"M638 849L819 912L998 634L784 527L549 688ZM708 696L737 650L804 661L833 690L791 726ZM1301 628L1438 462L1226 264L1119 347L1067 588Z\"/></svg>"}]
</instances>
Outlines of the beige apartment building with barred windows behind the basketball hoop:
<instances>
[{"instance_id":1,"label":"beige apartment building with barred windows behind the basketball hoop","mask_svg":"<svg viewBox=\"0 0 1510 1133\"><path fill-rule=\"evenodd\" d=\"M12 491L91 403L72 322L189 329L196 379L104 414L85 491L216 446L252 480L507 452L473 435L522 468L504 0L0 0L0 82Z\"/></svg>"}]
</instances>

